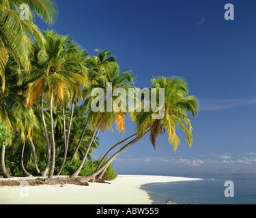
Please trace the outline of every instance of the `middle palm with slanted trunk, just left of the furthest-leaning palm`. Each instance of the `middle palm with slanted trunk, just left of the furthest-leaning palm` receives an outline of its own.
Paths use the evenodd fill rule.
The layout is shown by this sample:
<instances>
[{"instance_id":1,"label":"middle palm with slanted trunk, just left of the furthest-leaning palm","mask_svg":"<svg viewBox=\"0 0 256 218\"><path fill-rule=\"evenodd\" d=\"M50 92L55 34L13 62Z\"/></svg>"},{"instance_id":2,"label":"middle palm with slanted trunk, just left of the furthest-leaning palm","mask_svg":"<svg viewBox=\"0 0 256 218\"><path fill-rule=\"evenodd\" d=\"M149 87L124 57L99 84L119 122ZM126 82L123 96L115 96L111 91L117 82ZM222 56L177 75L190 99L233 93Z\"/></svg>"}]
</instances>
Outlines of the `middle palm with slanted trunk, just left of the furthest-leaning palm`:
<instances>
[{"instance_id":1,"label":"middle palm with slanted trunk, just left of the furthest-leaning palm","mask_svg":"<svg viewBox=\"0 0 256 218\"><path fill-rule=\"evenodd\" d=\"M94 74L94 81L97 82L97 85L93 86L93 88L100 87L102 90L104 90L104 99L103 101L107 102L111 101L111 104L117 99L117 97L109 98L109 90L108 90L108 82L111 82L111 91L115 92L115 89L124 89L128 93L128 88L132 87L130 86L130 82L134 82L134 75L131 74L131 72L123 72L122 74L119 73L119 66L116 63L104 63L104 65L100 66L98 68L97 72ZM94 89L91 89L91 92L93 92ZM87 100L85 101L87 105L91 105L91 102L94 101L95 97L91 95L91 92L87 93L89 96ZM94 137L96 135L96 132L100 129L102 132L106 129L111 129L111 125L113 121L116 121L117 123L117 130L124 133L125 127L124 127L124 116L127 114L127 112L123 111L116 111L115 108L112 108L111 111L106 111L106 104L104 107L104 112L94 112L89 108L88 112L88 118L91 120L91 125L93 126L94 132L91 136L91 139L89 140L89 144L87 146L87 151L85 152L85 155L83 157L83 160L81 162L81 165L79 168L74 172L71 177L76 177L79 175L81 169L83 168L83 164L85 163L85 160L87 158L87 154L89 152L89 149L91 147L92 142L94 141ZM128 106L126 105L125 108Z\"/></svg>"}]
</instances>

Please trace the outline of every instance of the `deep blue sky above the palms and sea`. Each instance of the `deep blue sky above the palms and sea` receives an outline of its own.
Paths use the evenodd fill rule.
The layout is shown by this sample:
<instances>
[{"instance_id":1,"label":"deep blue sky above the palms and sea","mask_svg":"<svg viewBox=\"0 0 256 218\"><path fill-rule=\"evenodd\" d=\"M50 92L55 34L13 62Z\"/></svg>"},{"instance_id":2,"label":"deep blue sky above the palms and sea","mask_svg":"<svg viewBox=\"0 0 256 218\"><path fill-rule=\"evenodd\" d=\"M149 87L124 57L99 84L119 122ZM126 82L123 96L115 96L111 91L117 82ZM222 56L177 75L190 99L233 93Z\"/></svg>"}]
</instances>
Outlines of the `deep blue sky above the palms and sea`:
<instances>
[{"instance_id":1,"label":"deep blue sky above the palms and sea","mask_svg":"<svg viewBox=\"0 0 256 218\"><path fill-rule=\"evenodd\" d=\"M233 3L235 20L225 20ZM256 2L208 0L57 0L59 18L52 29L72 35L87 49L109 49L122 72L137 74L137 87L153 76L181 76L201 110L191 118L192 149L179 130L173 153L168 136L154 151L148 136L113 162L120 174L256 173ZM201 24L201 22L204 22ZM39 27L47 29L39 18ZM124 136L100 134L103 156L134 133L126 121Z\"/></svg>"}]
</instances>

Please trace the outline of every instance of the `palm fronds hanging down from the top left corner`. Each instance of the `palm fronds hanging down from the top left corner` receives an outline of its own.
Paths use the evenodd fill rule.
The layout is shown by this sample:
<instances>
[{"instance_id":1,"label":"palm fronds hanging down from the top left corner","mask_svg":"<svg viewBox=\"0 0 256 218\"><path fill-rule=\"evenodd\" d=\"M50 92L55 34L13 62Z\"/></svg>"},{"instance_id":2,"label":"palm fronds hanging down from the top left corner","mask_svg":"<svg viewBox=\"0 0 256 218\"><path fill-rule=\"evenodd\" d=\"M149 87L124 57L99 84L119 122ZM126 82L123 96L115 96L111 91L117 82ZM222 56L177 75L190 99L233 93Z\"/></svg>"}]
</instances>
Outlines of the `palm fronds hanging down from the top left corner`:
<instances>
[{"instance_id":1,"label":"palm fronds hanging down from the top left corner","mask_svg":"<svg viewBox=\"0 0 256 218\"><path fill-rule=\"evenodd\" d=\"M29 6L29 20L20 18L20 5ZM33 43L31 35L44 49L44 36L40 29L33 24L37 14L49 25L57 19L57 5L51 0L1 0L0 1L0 77L1 90L5 90L5 67L10 55L15 61L21 63L26 72L31 65L29 59L33 56Z\"/></svg>"}]
</instances>

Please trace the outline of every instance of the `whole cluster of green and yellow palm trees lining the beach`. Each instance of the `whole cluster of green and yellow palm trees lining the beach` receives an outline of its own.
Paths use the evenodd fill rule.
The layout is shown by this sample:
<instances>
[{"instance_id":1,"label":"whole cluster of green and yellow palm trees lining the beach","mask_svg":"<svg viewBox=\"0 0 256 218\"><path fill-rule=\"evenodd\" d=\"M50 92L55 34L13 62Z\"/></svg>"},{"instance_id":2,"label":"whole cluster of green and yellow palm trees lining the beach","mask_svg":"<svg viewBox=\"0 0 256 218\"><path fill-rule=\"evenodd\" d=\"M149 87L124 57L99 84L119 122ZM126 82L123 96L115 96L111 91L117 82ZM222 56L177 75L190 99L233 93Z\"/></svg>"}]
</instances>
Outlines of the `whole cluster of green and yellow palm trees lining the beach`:
<instances>
[{"instance_id":1,"label":"whole cluster of green and yellow palm trees lining the beach","mask_svg":"<svg viewBox=\"0 0 256 218\"><path fill-rule=\"evenodd\" d=\"M22 3L29 5L29 20L19 17ZM117 155L147 134L156 147L158 135L167 131L169 142L176 151L180 140L175 130L180 127L186 141L192 145L192 127L187 112L196 116L199 105L196 97L188 96L188 86L182 78L152 79L152 88L165 89L165 115L160 120L152 119L152 114L156 114L153 110L94 112L91 102L95 97L91 91L95 88L104 90L104 101L108 101L107 84L111 82L112 91L122 88L128 93L135 79L132 72L120 73L115 57L108 50L96 50L98 56L91 57L69 35L59 35L54 31L42 33L33 23L34 14L52 25L58 13L54 1L0 0L0 11L0 123L13 136L9 145L18 134L18 145L22 148L21 164L27 176L30 174L23 164L26 144L33 153L38 175L52 178L56 158L61 153L63 161L57 175L61 174L70 155L70 164L74 159L81 159L79 168L70 175L76 177L91 150L98 146L98 132L112 129L115 123L117 130L124 134L126 117L137 125L134 135L111 147L85 181L94 180L96 176L101 178ZM112 101L116 98L113 97ZM125 142L127 144L103 164L111 151ZM5 146L1 144L1 168L3 176L8 178ZM40 150L42 147L44 149ZM42 154L36 155L36 149ZM42 171L36 160L40 157L46 159Z\"/></svg>"}]
</instances>

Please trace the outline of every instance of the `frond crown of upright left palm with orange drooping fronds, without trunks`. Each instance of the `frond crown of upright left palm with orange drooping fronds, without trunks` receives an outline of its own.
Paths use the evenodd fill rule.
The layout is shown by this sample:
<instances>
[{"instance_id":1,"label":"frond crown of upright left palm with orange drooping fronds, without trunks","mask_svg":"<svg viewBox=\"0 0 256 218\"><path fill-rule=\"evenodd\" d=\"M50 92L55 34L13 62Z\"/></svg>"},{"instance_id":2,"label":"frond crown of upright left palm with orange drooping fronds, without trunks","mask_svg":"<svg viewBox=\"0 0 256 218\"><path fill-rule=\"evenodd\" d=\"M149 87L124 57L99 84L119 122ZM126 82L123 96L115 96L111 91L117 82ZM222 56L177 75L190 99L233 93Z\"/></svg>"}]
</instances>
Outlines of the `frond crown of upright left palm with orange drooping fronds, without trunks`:
<instances>
[{"instance_id":1,"label":"frond crown of upright left palm with orange drooping fronds, without trunks","mask_svg":"<svg viewBox=\"0 0 256 218\"><path fill-rule=\"evenodd\" d=\"M35 44L35 57L31 61L35 67L31 74L20 77L22 80L31 78L25 94L29 107L44 91L48 91L48 99L51 92L54 93L53 102L58 106L70 96L70 92L82 97L80 88L89 87L85 66L87 54L81 51L81 47L68 36L53 31L46 31L44 35L46 50L40 50ZM81 62L82 58L84 61Z\"/></svg>"}]
</instances>

